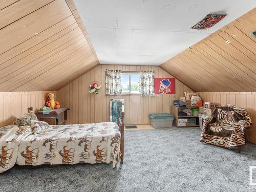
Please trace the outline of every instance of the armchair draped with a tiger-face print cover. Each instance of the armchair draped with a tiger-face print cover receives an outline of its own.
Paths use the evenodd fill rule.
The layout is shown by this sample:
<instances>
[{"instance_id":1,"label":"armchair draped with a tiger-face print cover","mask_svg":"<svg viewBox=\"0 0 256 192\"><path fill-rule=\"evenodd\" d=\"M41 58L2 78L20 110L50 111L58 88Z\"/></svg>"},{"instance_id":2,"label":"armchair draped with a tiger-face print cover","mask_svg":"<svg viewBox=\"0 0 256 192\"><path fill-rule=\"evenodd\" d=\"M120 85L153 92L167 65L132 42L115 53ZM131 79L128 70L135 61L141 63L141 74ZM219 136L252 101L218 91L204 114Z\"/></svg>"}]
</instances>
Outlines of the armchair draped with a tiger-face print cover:
<instances>
[{"instance_id":1,"label":"armchair draped with a tiger-face print cover","mask_svg":"<svg viewBox=\"0 0 256 192\"><path fill-rule=\"evenodd\" d=\"M251 119L244 108L234 105L218 106L211 117L203 119L200 141L221 147L245 145L245 128L252 125Z\"/></svg>"}]
</instances>

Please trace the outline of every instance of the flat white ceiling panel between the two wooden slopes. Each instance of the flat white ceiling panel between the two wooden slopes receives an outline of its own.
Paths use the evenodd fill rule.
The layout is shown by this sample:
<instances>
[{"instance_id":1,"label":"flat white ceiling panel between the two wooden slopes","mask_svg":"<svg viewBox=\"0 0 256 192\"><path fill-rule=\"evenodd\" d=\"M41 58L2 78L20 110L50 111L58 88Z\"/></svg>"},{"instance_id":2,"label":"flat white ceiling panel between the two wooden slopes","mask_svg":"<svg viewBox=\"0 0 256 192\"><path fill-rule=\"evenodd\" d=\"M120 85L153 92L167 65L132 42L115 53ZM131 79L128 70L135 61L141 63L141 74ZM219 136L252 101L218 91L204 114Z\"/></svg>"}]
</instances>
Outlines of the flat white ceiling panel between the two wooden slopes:
<instances>
[{"instance_id":1,"label":"flat white ceiling panel between the two wooden slopes","mask_svg":"<svg viewBox=\"0 0 256 192\"><path fill-rule=\"evenodd\" d=\"M104 64L160 65L256 6L255 0L74 0ZM208 13L227 14L191 30Z\"/></svg>"}]
</instances>

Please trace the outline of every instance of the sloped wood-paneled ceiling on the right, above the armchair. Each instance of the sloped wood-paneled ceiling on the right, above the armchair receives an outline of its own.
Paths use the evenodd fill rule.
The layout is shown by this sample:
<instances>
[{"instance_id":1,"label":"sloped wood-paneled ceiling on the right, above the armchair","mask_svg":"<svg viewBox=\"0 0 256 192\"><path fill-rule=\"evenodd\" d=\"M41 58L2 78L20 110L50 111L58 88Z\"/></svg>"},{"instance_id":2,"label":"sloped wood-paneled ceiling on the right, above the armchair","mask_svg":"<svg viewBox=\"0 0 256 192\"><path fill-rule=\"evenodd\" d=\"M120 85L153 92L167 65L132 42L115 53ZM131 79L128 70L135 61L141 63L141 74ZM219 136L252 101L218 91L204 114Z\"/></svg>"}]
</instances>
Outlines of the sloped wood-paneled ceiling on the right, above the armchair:
<instances>
[{"instance_id":1,"label":"sloped wood-paneled ceiling on the right, above the armchair","mask_svg":"<svg viewBox=\"0 0 256 192\"><path fill-rule=\"evenodd\" d=\"M253 31L256 31L256 8L160 67L194 91L256 91Z\"/></svg>"}]
</instances>

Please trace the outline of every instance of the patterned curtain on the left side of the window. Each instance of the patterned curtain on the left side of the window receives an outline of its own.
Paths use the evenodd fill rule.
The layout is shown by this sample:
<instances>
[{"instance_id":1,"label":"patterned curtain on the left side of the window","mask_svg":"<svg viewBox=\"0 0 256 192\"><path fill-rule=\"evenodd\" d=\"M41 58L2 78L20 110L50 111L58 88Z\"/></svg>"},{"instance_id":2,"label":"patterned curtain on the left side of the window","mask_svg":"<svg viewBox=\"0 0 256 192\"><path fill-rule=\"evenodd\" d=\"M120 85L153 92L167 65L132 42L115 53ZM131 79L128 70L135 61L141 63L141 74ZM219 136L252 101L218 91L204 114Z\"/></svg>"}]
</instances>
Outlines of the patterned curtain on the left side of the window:
<instances>
[{"instance_id":1,"label":"patterned curtain on the left side of the window","mask_svg":"<svg viewBox=\"0 0 256 192\"><path fill-rule=\"evenodd\" d=\"M121 71L120 70L106 70L106 95L121 95L122 83L121 83Z\"/></svg>"}]
</instances>

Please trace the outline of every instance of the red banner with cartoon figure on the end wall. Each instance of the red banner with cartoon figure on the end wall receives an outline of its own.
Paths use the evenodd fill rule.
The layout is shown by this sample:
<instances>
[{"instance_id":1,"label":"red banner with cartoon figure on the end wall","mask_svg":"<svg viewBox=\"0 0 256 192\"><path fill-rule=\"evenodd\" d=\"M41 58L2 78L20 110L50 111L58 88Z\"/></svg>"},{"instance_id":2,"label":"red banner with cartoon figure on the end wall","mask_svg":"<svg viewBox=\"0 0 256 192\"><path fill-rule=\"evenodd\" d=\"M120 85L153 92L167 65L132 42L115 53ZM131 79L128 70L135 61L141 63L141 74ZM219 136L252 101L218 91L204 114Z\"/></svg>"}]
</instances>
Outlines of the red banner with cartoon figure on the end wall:
<instances>
[{"instance_id":1,"label":"red banner with cartoon figure on the end wall","mask_svg":"<svg viewBox=\"0 0 256 192\"><path fill-rule=\"evenodd\" d=\"M175 94L175 78L155 78L155 94Z\"/></svg>"}]
</instances>

